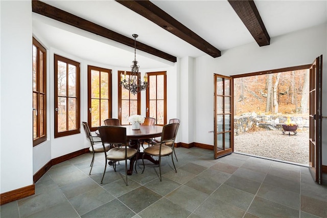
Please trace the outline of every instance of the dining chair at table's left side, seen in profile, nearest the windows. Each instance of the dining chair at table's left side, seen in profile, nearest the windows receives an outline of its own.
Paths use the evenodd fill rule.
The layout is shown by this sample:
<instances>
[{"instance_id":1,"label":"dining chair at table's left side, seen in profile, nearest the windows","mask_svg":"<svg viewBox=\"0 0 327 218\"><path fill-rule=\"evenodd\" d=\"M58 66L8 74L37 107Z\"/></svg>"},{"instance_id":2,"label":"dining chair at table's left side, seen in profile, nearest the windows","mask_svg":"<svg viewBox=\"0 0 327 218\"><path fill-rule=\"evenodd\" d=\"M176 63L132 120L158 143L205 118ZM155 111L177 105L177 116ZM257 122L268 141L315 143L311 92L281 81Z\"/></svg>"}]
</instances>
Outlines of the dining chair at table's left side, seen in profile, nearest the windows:
<instances>
[{"instance_id":1,"label":"dining chair at table's left side, seen in profile, nearest the windows","mask_svg":"<svg viewBox=\"0 0 327 218\"><path fill-rule=\"evenodd\" d=\"M92 161L90 164L90 172L88 173L88 175L91 175L91 171L92 171L92 167L94 164L94 158L95 158L95 153L99 153L99 152L106 152L110 149L110 144L105 144L105 146L102 145L102 143L97 143L96 142L102 142L101 140L95 141L94 138L98 138L98 136L92 136L90 128L87 124L87 122L82 122L84 130L85 130L85 134L88 138L88 140L90 141L90 147L89 147L89 151L92 152Z\"/></svg>"}]
</instances>

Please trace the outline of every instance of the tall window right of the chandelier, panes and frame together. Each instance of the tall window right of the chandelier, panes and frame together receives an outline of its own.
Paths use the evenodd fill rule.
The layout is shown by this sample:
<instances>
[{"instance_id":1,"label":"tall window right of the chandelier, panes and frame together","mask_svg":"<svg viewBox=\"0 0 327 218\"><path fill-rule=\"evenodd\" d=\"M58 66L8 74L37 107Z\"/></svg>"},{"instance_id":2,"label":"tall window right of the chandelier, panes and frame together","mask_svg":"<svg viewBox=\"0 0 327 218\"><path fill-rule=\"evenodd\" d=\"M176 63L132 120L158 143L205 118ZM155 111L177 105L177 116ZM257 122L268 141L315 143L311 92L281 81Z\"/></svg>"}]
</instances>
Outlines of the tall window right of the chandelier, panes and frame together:
<instances>
[{"instance_id":1,"label":"tall window right of the chandelier, panes and frame together","mask_svg":"<svg viewBox=\"0 0 327 218\"><path fill-rule=\"evenodd\" d=\"M148 73L147 117L153 117L156 125L167 123L167 76L165 72Z\"/></svg>"}]
</instances>

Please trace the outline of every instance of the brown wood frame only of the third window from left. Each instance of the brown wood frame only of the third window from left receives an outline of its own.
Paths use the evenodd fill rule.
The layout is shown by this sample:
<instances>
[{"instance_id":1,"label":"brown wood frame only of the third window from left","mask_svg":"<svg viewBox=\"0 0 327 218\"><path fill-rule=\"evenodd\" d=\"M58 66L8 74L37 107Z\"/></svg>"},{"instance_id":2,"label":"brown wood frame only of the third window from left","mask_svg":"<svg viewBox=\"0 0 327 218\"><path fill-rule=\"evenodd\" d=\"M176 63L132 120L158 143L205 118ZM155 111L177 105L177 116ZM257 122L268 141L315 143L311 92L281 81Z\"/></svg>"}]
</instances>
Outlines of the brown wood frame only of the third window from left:
<instances>
[{"instance_id":1,"label":"brown wood frame only of the third window from left","mask_svg":"<svg viewBox=\"0 0 327 218\"><path fill-rule=\"evenodd\" d=\"M94 71L99 71L100 72L100 77L99 80L101 79L101 73L108 73L108 98L102 98L101 96L101 92L100 92L100 96L99 98L92 98L91 96L91 72L92 70ZM100 83L100 81L99 81ZM100 85L99 85L100 88ZM101 105L101 99L105 99L108 100L108 118L112 117L112 71L110 69L105 69L105 68L99 68L99 67L95 67L95 66L87 66L87 122L88 125L90 126L90 130L91 131L95 131L98 128L95 126L92 126L92 104L91 101L92 99L99 99L100 100L100 105ZM101 125L101 121L103 122L104 119L101 119L101 108L100 108L100 125Z\"/></svg>"}]
</instances>

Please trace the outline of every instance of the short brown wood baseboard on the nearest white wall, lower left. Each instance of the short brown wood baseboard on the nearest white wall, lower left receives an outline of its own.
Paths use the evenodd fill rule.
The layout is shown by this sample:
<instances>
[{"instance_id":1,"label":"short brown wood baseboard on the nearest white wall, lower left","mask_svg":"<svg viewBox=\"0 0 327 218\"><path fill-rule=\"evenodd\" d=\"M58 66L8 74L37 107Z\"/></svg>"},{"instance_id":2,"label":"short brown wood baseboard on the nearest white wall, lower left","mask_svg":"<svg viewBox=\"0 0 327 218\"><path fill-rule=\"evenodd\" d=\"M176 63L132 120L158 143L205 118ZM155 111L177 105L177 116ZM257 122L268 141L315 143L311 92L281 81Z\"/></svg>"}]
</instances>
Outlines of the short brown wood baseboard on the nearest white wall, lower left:
<instances>
[{"instance_id":1,"label":"short brown wood baseboard on the nearest white wall, lower left","mask_svg":"<svg viewBox=\"0 0 327 218\"><path fill-rule=\"evenodd\" d=\"M35 194L35 185L29 185L15 190L7 191L1 194L0 205L16 201Z\"/></svg>"}]
</instances>

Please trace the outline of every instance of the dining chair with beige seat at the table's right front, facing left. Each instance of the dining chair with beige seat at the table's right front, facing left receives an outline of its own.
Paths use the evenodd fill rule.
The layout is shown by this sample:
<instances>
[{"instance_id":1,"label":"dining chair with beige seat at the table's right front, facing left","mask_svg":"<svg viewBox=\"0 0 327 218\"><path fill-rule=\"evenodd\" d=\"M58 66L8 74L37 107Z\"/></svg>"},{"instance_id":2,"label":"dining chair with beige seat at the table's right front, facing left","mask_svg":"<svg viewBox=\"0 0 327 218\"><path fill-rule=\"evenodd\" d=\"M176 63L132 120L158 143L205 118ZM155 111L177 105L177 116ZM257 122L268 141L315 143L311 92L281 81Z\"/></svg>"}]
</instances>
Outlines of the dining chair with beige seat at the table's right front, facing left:
<instances>
[{"instance_id":1,"label":"dining chair with beige seat at the table's right front, facing left","mask_svg":"<svg viewBox=\"0 0 327 218\"><path fill-rule=\"evenodd\" d=\"M144 164L144 156L145 155L159 157L160 182L162 181L162 179L161 179L161 157L171 155L172 162L173 162L173 165L175 168L175 172L177 172L175 163L174 163L174 158L173 158L174 146L170 146L170 144L174 145L178 127L179 127L179 123L171 123L171 124L164 125L164 127L162 128L160 142L157 144L153 144L152 146L149 146L144 149L143 157L142 157L142 160L143 160L142 173L144 172L144 169L145 169L145 164Z\"/></svg>"}]
</instances>

